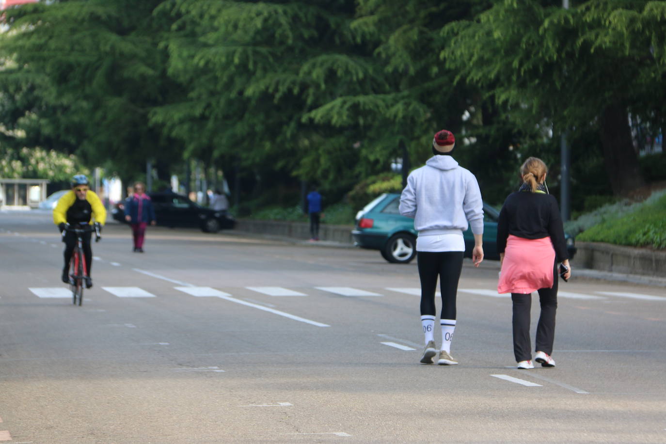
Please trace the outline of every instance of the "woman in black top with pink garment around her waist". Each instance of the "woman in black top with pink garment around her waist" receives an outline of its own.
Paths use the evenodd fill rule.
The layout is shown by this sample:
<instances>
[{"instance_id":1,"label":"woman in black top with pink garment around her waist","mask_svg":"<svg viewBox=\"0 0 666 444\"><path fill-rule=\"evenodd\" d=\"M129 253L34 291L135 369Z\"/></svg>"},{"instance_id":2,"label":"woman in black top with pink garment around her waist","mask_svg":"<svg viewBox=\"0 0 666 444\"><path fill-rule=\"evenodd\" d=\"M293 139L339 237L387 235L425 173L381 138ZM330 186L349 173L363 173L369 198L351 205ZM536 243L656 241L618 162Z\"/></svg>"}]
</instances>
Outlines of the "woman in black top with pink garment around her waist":
<instances>
[{"instance_id":1,"label":"woman in black top with pink garment around her waist","mask_svg":"<svg viewBox=\"0 0 666 444\"><path fill-rule=\"evenodd\" d=\"M519 369L534 368L529 339L532 293L539 293L541 316L537 325L535 361L555 367L553 339L557 311L557 264L571 276L564 228L557 200L545 186L547 167L530 157L520 168L523 184L509 194L498 221L500 282L498 292L513 301L513 353Z\"/></svg>"}]
</instances>

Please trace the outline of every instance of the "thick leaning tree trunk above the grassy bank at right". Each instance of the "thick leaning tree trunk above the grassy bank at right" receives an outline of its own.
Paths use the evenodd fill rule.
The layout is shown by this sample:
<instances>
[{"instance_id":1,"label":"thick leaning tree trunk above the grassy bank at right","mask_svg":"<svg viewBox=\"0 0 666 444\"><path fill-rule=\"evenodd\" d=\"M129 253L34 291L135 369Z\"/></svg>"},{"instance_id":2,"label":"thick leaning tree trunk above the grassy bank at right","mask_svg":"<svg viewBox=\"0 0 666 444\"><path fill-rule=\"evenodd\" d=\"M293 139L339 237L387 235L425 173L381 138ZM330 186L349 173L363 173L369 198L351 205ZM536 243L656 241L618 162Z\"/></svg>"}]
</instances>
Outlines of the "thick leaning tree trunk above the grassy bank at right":
<instances>
[{"instance_id":1,"label":"thick leaning tree trunk above the grassy bank at right","mask_svg":"<svg viewBox=\"0 0 666 444\"><path fill-rule=\"evenodd\" d=\"M616 196L645 186L638 154L631 141L627 110L617 103L606 107L599 117L601 146L606 172Z\"/></svg>"}]
</instances>

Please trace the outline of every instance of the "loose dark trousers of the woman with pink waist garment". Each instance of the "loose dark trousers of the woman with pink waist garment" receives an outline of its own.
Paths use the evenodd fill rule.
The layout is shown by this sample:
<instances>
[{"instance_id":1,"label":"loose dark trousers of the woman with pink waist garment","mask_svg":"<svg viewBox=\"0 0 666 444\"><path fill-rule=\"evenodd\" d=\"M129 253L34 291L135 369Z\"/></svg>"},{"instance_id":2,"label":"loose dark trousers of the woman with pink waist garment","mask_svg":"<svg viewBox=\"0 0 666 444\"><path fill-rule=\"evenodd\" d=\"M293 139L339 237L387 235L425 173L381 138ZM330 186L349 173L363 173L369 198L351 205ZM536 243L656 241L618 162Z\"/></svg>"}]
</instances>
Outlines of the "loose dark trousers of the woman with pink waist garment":
<instances>
[{"instance_id":1,"label":"loose dark trousers of the woman with pink waist garment","mask_svg":"<svg viewBox=\"0 0 666 444\"><path fill-rule=\"evenodd\" d=\"M539 288L541 315L537 324L536 351L553 353L555 340L555 312L557 312L557 264L553 266L553 288ZM513 354L515 361L529 361L532 356L529 340L531 294L511 293L513 301Z\"/></svg>"}]
</instances>

